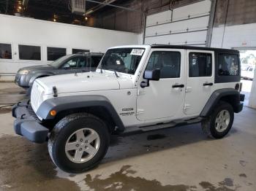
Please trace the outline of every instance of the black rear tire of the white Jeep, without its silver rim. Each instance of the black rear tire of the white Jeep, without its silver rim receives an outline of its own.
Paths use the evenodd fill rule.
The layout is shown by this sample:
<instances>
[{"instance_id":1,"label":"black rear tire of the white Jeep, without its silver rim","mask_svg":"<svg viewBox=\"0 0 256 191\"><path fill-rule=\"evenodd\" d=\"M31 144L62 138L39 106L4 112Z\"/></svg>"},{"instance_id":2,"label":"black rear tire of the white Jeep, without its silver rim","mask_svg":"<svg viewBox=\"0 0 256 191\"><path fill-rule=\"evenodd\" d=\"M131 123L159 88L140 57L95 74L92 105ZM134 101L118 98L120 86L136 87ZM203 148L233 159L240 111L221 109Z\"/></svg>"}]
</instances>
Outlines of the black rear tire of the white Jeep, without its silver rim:
<instances>
[{"instance_id":1,"label":"black rear tire of the white Jeep, without its silver rim","mask_svg":"<svg viewBox=\"0 0 256 191\"><path fill-rule=\"evenodd\" d=\"M219 130L217 130L217 127L216 127L216 120L217 120L218 114L222 111L227 111L230 114L230 120L228 122L227 128L225 128L225 130L220 132ZM224 136L226 136L227 133L230 131L230 128L233 125L233 120L234 120L233 107L225 101L219 101L219 104L217 104L211 116L208 117L206 120L203 120L203 122L201 122L203 133L206 133L206 135L211 136L215 139L221 139Z\"/></svg>"}]
</instances>

